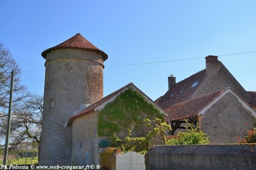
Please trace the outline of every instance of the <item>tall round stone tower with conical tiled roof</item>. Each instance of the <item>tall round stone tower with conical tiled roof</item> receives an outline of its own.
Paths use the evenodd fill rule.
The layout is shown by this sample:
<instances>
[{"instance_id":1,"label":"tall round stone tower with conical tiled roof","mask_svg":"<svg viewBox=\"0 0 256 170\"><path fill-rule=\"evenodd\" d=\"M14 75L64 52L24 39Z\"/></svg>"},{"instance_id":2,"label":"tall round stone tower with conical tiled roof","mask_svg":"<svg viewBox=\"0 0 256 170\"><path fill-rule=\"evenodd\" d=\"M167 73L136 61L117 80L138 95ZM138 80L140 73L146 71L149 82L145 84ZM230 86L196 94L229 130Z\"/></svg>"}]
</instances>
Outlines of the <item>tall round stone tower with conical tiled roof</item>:
<instances>
[{"instance_id":1,"label":"tall round stone tower with conical tiled roof","mask_svg":"<svg viewBox=\"0 0 256 170\"><path fill-rule=\"evenodd\" d=\"M68 119L103 97L108 55L80 33L42 52L45 62L40 165L69 165ZM77 129L79 131L79 129Z\"/></svg>"}]
</instances>

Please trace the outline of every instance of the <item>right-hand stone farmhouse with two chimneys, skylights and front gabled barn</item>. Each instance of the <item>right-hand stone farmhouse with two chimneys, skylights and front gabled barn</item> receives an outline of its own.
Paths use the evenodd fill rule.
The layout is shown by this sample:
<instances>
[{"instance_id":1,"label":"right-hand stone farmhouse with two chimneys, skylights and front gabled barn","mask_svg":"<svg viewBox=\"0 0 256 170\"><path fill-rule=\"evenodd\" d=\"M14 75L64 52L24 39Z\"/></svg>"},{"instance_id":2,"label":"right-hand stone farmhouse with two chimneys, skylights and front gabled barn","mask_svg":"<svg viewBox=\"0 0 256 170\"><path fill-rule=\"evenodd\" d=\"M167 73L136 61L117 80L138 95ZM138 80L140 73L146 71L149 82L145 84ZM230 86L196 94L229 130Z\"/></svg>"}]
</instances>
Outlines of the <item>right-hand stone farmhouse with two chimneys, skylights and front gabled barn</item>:
<instances>
[{"instance_id":1,"label":"right-hand stone farmhouse with two chimneys, skylights and front gabled barn","mask_svg":"<svg viewBox=\"0 0 256 170\"><path fill-rule=\"evenodd\" d=\"M244 90L218 56L206 57L206 68L176 83L155 101L168 113L170 135L185 129L186 121L210 136L211 143L237 143L256 123L256 92Z\"/></svg>"}]
</instances>

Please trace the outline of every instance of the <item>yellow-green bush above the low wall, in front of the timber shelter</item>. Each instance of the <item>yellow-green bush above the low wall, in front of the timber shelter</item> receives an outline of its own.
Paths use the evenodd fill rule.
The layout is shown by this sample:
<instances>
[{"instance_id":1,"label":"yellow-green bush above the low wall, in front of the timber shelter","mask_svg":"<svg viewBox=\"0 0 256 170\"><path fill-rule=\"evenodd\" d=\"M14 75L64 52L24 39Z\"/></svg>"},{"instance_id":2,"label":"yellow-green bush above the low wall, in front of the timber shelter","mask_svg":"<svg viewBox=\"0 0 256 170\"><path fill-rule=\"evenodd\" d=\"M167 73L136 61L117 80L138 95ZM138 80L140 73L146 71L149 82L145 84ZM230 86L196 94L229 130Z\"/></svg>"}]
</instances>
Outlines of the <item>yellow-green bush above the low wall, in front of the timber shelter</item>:
<instances>
[{"instance_id":1,"label":"yellow-green bush above the low wall, in front of the timber shelter","mask_svg":"<svg viewBox=\"0 0 256 170\"><path fill-rule=\"evenodd\" d=\"M190 123L188 123L190 125ZM190 125L191 127L191 125ZM192 129L188 129L187 131L179 131L178 135L175 138L172 138L167 141L167 145L204 145L208 144L209 137L206 133L199 131L199 126L191 127Z\"/></svg>"}]
</instances>

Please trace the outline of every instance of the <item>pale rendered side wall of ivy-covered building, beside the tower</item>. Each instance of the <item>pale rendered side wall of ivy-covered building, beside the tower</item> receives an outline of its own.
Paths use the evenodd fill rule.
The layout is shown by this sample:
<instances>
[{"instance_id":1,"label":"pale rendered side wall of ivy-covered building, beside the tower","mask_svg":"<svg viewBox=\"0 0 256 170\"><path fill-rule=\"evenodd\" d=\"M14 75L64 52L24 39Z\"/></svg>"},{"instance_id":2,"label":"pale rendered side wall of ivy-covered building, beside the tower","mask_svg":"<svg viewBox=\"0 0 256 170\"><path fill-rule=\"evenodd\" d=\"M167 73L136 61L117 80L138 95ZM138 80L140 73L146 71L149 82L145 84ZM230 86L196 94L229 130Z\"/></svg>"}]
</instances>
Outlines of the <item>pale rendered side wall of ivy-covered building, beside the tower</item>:
<instances>
[{"instance_id":1,"label":"pale rendered side wall of ivy-covered building, beside the tower","mask_svg":"<svg viewBox=\"0 0 256 170\"><path fill-rule=\"evenodd\" d=\"M99 164L99 154L103 148L99 147L98 137L98 111L88 113L74 119L71 125L72 133L72 165L97 165Z\"/></svg>"}]
</instances>

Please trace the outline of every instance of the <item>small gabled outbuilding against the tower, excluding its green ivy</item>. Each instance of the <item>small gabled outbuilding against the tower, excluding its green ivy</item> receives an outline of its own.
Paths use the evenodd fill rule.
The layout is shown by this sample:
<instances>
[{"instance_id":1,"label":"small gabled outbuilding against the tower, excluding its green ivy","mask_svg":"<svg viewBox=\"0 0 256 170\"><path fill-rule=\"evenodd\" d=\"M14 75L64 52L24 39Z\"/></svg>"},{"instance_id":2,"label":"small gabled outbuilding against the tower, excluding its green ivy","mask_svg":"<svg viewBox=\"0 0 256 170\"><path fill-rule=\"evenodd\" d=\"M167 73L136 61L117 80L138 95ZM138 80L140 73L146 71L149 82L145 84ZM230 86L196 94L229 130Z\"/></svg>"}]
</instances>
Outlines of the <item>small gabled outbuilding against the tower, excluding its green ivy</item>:
<instances>
[{"instance_id":1,"label":"small gabled outbuilding against the tower, excluding its green ivy","mask_svg":"<svg viewBox=\"0 0 256 170\"><path fill-rule=\"evenodd\" d=\"M102 110L107 104L116 100L116 98L124 93L126 90L133 89L142 94L147 102L154 105L157 109L160 110L161 113L167 115L164 110L154 103L148 96L146 96L140 89L138 89L133 83L129 83L126 86L116 90L115 92L109 94L108 96L102 98L98 102L88 106L84 111L70 117L67 123L67 127L71 128L72 134L72 150L71 150L71 162L72 164L89 164L98 162L99 160L99 152L102 150L103 146L100 146L101 142L109 142L109 139L106 137L102 137L99 133L97 133L98 128L98 119L99 112ZM110 121L106 117L107 121ZM120 123L124 123L122 120ZM77 129L80 129L78 131ZM100 129L100 131L104 131L104 128ZM146 128L140 126L138 131L133 131L133 137L141 137L143 133L146 133ZM117 133L118 137L124 139L124 137L128 136L128 131L126 129L122 129L119 133ZM105 145L107 147L108 145Z\"/></svg>"}]
</instances>

